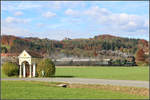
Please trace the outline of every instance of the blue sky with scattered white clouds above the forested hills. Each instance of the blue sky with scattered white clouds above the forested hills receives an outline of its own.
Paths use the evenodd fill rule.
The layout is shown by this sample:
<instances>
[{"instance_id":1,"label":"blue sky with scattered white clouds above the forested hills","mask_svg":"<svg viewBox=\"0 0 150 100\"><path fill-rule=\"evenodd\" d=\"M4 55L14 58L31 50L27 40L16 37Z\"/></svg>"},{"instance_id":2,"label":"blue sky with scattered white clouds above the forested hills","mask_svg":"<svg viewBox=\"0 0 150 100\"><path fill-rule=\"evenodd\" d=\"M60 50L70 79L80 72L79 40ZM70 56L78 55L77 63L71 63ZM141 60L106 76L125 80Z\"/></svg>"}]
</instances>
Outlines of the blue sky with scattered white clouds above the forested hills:
<instances>
[{"instance_id":1,"label":"blue sky with scattered white clouds above the forested hills","mask_svg":"<svg viewBox=\"0 0 150 100\"><path fill-rule=\"evenodd\" d=\"M149 2L2 1L1 34L55 40L110 34L149 40Z\"/></svg>"}]
</instances>

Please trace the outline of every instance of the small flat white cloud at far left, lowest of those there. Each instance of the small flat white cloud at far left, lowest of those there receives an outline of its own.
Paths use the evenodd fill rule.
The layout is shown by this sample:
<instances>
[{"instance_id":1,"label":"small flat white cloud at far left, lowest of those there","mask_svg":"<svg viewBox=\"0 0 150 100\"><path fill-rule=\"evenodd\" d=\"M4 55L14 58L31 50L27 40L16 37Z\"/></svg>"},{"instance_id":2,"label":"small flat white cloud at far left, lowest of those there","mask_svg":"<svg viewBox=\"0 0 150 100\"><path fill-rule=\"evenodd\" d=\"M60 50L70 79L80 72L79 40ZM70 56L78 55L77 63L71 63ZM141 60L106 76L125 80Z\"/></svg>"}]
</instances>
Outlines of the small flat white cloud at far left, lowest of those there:
<instances>
[{"instance_id":1,"label":"small flat white cloud at far left, lowest of those there","mask_svg":"<svg viewBox=\"0 0 150 100\"><path fill-rule=\"evenodd\" d=\"M7 22L7 23L14 23L14 24L18 24L18 23L26 24L26 23L28 23L30 21L31 21L31 19L20 19L20 18L15 18L15 17L7 17L5 19L5 22Z\"/></svg>"}]
</instances>

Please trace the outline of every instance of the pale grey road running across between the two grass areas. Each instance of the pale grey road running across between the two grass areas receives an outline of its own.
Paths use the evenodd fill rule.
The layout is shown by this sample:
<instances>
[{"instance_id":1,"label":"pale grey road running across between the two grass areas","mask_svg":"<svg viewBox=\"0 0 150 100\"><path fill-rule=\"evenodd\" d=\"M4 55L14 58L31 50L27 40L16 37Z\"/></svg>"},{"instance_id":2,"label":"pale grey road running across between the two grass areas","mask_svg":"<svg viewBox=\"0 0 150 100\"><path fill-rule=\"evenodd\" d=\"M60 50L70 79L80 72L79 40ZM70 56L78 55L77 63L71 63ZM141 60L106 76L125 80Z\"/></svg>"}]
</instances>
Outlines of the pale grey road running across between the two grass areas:
<instances>
[{"instance_id":1,"label":"pale grey road running across between the two grass areas","mask_svg":"<svg viewBox=\"0 0 150 100\"><path fill-rule=\"evenodd\" d=\"M67 82L67 83L102 84L102 85L109 84L116 86L149 88L148 81L132 81L132 80L108 80L108 79L87 79L87 78L2 78L1 80Z\"/></svg>"}]
</instances>

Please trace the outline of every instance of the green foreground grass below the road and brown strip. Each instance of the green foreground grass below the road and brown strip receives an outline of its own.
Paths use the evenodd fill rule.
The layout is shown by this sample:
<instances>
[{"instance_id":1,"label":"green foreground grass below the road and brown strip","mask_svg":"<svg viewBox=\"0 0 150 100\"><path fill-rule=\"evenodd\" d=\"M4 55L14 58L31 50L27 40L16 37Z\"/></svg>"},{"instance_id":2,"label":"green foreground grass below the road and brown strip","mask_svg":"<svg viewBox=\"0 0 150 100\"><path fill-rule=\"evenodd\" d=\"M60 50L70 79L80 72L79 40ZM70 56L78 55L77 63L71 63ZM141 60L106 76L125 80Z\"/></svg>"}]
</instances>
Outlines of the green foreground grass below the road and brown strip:
<instances>
[{"instance_id":1,"label":"green foreground grass below the road and brown strip","mask_svg":"<svg viewBox=\"0 0 150 100\"><path fill-rule=\"evenodd\" d=\"M57 83L34 81L2 81L2 99L50 99L50 98L101 98L101 99L148 99L148 96L128 94L107 89L63 88Z\"/></svg>"}]
</instances>

